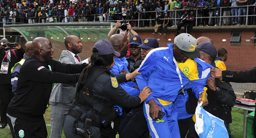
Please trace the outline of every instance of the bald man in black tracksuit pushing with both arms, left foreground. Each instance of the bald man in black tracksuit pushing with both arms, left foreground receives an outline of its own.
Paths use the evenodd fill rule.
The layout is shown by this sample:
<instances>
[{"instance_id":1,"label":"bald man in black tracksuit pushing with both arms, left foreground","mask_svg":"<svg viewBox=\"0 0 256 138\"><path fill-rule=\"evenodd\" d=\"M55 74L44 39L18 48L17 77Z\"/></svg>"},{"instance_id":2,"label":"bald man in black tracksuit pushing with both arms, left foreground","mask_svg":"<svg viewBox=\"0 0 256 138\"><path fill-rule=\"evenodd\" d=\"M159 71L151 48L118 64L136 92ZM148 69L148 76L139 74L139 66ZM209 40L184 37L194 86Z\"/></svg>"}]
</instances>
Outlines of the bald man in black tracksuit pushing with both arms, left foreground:
<instances>
[{"instance_id":1,"label":"bald man in black tracksuit pushing with both arms, left foreground","mask_svg":"<svg viewBox=\"0 0 256 138\"><path fill-rule=\"evenodd\" d=\"M52 83L76 83L84 64L65 64L53 60L52 43L37 37L31 44L32 56L20 68L16 92L7 109L13 137L47 137L43 114Z\"/></svg>"}]
</instances>

